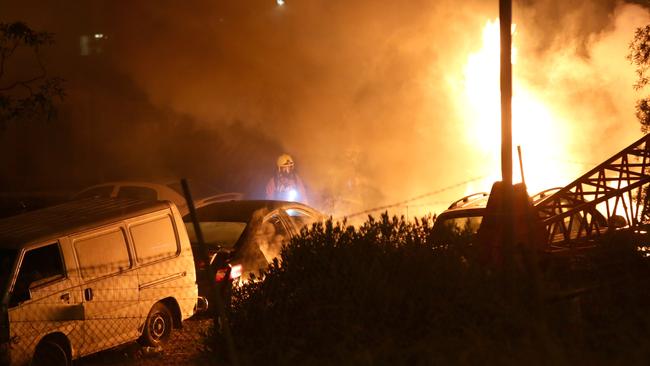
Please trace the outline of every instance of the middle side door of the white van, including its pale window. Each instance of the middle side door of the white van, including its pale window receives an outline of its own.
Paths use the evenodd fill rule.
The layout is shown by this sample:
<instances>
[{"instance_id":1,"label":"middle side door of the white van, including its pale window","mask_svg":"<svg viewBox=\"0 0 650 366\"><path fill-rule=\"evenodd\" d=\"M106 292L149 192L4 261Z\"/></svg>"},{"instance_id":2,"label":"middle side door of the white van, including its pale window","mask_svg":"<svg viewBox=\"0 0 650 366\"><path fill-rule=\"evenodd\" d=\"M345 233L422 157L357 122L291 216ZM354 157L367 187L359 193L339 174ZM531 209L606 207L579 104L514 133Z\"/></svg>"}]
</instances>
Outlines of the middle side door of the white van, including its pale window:
<instances>
[{"instance_id":1,"label":"middle side door of the white van, including its pale window","mask_svg":"<svg viewBox=\"0 0 650 366\"><path fill-rule=\"evenodd\" d=\"M72 238L82 279L85 339L81 354L136 339L138 277L121 226Z\"/></svg>"}]
</instances>

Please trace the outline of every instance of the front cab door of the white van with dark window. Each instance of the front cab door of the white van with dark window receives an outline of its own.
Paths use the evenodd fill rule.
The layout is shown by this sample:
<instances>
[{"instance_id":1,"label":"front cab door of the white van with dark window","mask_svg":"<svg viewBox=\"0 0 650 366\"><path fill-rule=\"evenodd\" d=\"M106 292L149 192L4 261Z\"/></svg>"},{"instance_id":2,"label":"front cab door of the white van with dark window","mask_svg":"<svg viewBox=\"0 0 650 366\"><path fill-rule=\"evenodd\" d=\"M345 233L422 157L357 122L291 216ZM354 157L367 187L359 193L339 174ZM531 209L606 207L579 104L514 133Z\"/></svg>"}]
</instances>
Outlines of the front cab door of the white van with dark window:
<instances>
[{"instance_id":1,"label":"front cab door of the white van with dark window","mask_svg":"<svg viewBox=\"0 0 650 366\"><path fill-rule=\"evenodd\" d=\"M9 324L12 352L29 358L41 337L68 336L73 347L83 342L83 306L76 276L69 276L60 243L46 242L18 258L10 288ZM14 355L16 356L16 355Z\"/></svg>"}]
</instances>

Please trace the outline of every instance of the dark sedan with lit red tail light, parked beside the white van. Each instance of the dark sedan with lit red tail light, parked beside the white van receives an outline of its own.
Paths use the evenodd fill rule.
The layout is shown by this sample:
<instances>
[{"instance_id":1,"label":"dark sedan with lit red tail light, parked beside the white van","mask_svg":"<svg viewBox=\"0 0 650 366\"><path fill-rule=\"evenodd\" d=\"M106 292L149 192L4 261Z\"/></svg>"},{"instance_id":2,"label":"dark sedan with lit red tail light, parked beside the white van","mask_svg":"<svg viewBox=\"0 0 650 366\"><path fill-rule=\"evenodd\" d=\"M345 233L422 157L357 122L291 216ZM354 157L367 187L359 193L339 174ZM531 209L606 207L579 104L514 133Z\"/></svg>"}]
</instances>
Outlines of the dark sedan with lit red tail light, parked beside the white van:
<instances>
[{"instance_id":1,"label":"dark sedan with lit red tail light, parked beside the white van","mask_svg":"<svg viewBox=\"0 0 650 366\"><path fill-rule=\"evenodd\" d=\"M240 200L196 209L207 249L204 257L189 214L183 217L192 242L199 295L211 296L211 281L228 300L233 283L261 278L260 273L300 230L322 220L317 210L297 202ZM210 278L211 266L215 278ZM251 276L253 274L253 276Z\"/></svg>"}]
</instances>

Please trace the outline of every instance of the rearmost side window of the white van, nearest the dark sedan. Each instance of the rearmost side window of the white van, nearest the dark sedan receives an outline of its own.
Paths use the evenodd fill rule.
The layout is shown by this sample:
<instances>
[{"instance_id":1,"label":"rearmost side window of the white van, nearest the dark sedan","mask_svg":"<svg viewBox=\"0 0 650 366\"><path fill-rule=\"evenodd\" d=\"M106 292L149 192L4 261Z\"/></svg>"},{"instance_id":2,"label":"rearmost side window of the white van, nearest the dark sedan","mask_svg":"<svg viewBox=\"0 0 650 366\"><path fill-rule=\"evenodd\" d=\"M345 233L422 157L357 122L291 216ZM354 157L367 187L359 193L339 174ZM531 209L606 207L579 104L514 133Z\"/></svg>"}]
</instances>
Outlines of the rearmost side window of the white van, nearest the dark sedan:
<instances>
[{"instance_id":1,"label":"rearmost side window of the white van, nearest the dark sedan","mask_svg":"<svg viewBox=\"0 0 650 366\"><path fill-rule=\"evenodd\" d=\"M164 216L129 228L138 263L175 256L180 248L171 217Z\"/></svg>"}]
</instances>

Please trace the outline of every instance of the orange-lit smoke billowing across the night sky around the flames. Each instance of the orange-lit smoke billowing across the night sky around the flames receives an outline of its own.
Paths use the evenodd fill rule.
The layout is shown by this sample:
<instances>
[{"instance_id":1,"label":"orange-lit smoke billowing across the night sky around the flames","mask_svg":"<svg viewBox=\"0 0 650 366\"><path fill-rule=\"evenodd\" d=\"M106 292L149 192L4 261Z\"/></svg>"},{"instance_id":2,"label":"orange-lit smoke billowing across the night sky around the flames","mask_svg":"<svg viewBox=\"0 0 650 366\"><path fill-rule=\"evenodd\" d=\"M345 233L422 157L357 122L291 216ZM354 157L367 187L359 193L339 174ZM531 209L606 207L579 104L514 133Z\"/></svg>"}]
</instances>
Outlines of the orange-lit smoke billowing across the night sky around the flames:
<instances>
[{"instance_id":1,"label":"orange-lit smoke billowing across the night sky around the flames","mask_svg":"<svg viewBox=\"0 0 650 366\"><path fill-rule=\"evenodd\" d=\"M192 176L255 195L286 151L328 213L454 187L412 202L421 213L498 177L462 93L497 1L24 1L0 14L56 33L49 69L68 80L58 121L3 134L7 189ZM640 137L625 56L647 7L522 0L513 21L515 78L557 120L534 147L547 148L540 170L575 178ZM80 56L95 33L105 49Z\"/></svg>"}]
</instances>

